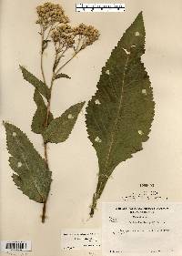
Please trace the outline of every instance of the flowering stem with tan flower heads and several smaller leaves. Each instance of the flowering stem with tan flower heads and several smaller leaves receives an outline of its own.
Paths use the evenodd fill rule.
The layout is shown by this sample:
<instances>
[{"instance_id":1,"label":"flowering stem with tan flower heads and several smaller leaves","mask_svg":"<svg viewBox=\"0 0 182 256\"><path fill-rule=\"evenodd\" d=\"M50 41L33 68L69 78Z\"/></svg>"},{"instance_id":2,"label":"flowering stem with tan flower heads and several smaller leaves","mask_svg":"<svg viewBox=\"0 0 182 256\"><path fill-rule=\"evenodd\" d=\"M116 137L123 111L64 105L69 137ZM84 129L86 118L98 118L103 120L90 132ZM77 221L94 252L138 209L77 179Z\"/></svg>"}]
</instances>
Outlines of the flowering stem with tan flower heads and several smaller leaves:
<instances>
[{"instance_id":1,"label":"flowering stem with tan flower heads and several smaller leaves","mask_svg":"<svg viewBox=\"0 0 182 256\"><path fill-rule=\"evenodd\" d=\"M41 38L40 69L42 79L35 77L25 67L20 66L23 77L35 87L35 115L32 120L32 131L42 136L45 157L42 158L35 150L32 142L15 125L4 122L6 130L6 145L11 157L9 164L15 171L13 180L18 189L43 204L42 222L45 222L46 201L52 182L52 172L48 164L48 143L59 143L69 137L76 118L85 102L77 103L68 108L61 117L54 118L51 113L51 96L55 81L60 78L70 78L62 73L70 61L86 46L92 45L99 36L94 26L80 24L72 27L61 5L46 2L36 7ZM54 45L54 65L51 67L52 78L50 85L46 81L44 71L44 53L49 44Z\"/></svg>"}]
</instances>

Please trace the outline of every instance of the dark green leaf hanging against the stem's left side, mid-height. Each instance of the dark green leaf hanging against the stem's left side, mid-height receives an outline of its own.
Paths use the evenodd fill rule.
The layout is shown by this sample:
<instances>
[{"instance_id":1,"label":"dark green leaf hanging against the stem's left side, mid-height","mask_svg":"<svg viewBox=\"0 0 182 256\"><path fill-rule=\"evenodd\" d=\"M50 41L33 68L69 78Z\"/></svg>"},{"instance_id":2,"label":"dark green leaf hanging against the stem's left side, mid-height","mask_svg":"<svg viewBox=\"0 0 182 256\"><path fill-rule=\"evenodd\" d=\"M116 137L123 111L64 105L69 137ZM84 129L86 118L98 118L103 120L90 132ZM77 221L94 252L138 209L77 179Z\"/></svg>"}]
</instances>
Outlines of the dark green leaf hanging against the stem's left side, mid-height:
<instances>
[{"instance_id":1,"label":"dark green leaf hanging against the stem's left side, mid-height","mask_svg":"<svg viewBox=\"0 0 182 256\"><path fill-rule=\"evenodd\" d=\"M46 106L45 102L38 92L37 89L35 89L35 94L34 94L34 100L35 104L37 106L37 109L35 111L34 118L32 120L32 131L34 131L37 134L42 134L43 131L45 130L45 122L46 122ZM49 114L48 118L48 124L53 120L53 114Z\"/></svg>"}]
</instances>

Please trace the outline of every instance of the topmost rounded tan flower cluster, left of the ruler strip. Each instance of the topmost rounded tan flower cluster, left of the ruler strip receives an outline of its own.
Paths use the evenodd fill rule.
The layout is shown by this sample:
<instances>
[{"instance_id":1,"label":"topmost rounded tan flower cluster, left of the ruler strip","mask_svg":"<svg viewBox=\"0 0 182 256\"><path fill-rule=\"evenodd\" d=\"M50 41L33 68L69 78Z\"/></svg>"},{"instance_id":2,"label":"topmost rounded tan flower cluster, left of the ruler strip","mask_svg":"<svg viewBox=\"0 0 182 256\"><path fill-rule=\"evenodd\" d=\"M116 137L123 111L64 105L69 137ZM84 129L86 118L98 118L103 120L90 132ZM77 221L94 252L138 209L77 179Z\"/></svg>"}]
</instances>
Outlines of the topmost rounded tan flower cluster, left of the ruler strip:
<instances>
[{"instance_id":1,"label":"topmost rounded tan flower cluster, left of the ruler strip","mask_svg":"<svg viewBox=\"0 0 182 256\"><path fill-rule=\"evenodd\" d=\"M46 2L44 5L38 5L36 12L38 15L36 23L45 27L55 23L66 24L69 22L64 9L60 5Z\"/></svg>"}]
</instances>

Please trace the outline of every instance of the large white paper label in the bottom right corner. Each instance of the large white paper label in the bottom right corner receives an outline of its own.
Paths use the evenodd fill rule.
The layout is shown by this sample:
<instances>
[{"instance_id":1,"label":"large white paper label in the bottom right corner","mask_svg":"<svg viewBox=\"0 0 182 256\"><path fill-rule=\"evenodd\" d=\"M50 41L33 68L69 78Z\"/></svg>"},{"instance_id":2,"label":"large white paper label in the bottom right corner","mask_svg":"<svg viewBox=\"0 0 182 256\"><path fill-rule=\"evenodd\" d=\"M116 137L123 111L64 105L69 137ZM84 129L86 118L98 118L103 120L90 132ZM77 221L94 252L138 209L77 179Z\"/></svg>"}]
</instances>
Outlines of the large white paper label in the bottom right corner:
<instances>
[{"instance_id":1,"label":"large white paper label in the bottom right corner","mask_svg":"<svg viewBox=\"0 0 182 256\"><path fill-rule=\"evenodd\" d=\"M103 203L103 255L182 255L182 204Z\"/></svg>"}]
</instances>

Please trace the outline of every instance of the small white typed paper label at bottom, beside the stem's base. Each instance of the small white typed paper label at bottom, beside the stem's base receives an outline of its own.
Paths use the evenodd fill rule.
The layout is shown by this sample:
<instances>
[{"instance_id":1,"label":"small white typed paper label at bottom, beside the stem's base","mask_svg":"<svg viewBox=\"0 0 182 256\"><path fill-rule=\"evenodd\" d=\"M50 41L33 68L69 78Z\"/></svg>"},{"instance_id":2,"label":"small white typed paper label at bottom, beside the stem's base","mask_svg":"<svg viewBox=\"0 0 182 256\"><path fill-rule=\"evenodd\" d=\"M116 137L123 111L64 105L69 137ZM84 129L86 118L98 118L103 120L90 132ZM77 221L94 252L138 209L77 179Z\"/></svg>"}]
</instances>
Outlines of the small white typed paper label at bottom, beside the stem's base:
<instances>
[{"instance_id":1,"label":"small white typed paper label at bottom, beside the stem's base","mask_svg":"<svg viewBox=\"0 0 182 256\"><path fill-rule=\"evenodd\" d=\"M63 229L61 230L61 250L100 250L101 230Z\"/></svg>"}]
</instances>

